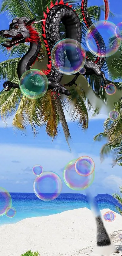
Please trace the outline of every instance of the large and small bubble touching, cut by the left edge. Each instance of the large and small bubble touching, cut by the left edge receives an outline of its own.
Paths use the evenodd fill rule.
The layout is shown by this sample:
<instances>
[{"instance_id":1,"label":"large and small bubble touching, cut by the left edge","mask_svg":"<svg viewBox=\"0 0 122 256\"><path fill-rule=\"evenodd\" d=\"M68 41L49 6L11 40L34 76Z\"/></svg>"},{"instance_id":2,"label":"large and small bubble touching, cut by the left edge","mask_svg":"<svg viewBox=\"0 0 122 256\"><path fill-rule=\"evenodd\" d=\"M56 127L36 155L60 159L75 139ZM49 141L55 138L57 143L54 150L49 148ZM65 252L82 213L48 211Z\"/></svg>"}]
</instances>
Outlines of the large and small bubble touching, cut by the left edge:
<instances>
[{"instance_id":1,"label":"large and small bubble touching, cut by the left edge","mask_svg":"<svg viewBox=\"0 0 122 256\"><path fill-rule=\"evenodd\" d=\"M16 214L16 209L12 207L12 197L8 191L0 187L0 216L6 215L13 218Z\"/></svg>"}]
</instances>

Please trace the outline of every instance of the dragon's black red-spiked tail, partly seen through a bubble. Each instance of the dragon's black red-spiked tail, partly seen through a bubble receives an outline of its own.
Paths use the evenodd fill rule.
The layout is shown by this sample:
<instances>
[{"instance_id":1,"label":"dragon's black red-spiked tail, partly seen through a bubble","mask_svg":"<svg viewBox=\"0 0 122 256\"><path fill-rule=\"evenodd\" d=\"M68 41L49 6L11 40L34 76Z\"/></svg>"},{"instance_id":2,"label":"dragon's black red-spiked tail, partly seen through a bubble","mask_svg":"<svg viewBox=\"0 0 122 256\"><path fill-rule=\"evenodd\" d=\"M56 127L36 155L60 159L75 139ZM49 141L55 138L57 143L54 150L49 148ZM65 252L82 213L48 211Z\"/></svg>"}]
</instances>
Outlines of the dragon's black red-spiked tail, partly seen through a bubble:
<instances>
[{"instance_id":1,"label":"dragon's black red-spiked tail, partly seen through a bubble","mask_svg":"<svg viewBox=\"0 0 122 256\"><path fill-rule=\"evenodd\" d=\"M104 4L105 4L104 20L108 20L108 17L109 17L109 2L108 2L108 0L104 0ZM85 25L87 26L87 28L89 28L93 23L92 23L92 21L90 19L90 16L88 14L87 0L82 0L82 2L81 2L81 13L82 13L82 17L83 17ZM97 31L96 35L97 35L97 37L95 37L95 35L94 35L94 39L95 39L96 44L97 44L97 49L99 50L99 52L106 53L106 47L105 47L105 43L104 43L103 38L101 37L101 35L99 34L98 31ZM103 66L104 62L105 62L105 58L103 58L103 57L97 57L96 60L95 60L95 63L97 63L97 65L100 68Z\"/></svg>"}]
</instances>

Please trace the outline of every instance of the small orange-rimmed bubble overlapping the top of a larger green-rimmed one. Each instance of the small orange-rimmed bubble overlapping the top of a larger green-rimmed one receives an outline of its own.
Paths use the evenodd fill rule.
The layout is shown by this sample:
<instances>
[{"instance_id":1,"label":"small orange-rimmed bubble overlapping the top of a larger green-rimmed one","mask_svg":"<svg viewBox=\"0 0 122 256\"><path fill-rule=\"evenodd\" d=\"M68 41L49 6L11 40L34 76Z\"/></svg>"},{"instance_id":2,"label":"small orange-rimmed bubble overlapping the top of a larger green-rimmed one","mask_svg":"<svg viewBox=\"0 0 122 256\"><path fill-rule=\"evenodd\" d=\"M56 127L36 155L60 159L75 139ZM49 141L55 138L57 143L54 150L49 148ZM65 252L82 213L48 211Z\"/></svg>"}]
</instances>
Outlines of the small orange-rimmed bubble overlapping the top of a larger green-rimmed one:
<instances>
[{"instance_id":1,"label":"small orange-rimmed bubble overlapping the top of a larger green-rimmed one","mask_svg":"<svg viewBox=\"0 0 122 256\"><path fill-rule=\"evenodd\" d=\"M91 157L79 157L75 162L75 171L81 176L88 176L94 171L95 164Z\"/></svg>"}]
</instances>

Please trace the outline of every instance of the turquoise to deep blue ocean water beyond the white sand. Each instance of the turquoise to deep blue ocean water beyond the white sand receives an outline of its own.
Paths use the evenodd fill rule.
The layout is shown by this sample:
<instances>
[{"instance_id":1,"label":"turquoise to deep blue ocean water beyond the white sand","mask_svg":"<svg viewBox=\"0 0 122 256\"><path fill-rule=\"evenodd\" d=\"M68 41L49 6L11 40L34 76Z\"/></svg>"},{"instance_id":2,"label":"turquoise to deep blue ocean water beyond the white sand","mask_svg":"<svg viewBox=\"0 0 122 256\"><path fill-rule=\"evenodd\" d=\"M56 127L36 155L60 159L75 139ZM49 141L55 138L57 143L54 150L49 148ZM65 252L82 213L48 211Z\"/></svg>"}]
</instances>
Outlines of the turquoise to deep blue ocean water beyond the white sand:
<instances>
[{"instance_id":1,"label":"turquoise to deep blue ocean water beyond the white sand","mask_svg":"<svg viewBox=\"0 0 122 256\"><path fill-rule=\"evenodd\" d=\"M16 215L8 218L6 215L0 217L0 225L16 223L25 218L48 216L61 213L63 211L84 208L90 209L87 197L82 194L60 194L58 198L52 201L42 201L36 197L35 193L10 193L12 197L12 206L16 209ZM109 208L111 211L116 210L116 206L122 209L111 195L98 194L96 197L100 210Z\"/></svg>"}]
</instances>

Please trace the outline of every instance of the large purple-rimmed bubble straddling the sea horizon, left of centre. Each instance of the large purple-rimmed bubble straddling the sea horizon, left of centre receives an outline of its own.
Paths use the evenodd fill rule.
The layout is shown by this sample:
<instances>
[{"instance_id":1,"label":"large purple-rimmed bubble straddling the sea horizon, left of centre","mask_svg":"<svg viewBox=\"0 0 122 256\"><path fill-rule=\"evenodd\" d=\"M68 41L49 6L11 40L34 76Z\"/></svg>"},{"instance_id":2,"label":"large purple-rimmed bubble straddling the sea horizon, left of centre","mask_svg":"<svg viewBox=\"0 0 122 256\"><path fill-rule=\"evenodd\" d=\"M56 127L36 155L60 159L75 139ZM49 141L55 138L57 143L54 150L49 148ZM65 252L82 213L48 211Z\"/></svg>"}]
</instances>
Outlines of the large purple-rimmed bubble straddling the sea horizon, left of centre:
<instances>
[{"instance_id":1,"label":"large purple-rimmed bubble straddling the sea horizon, left of centre","mask_svg":"<svg viewBox=\"0 0 122 256\"><path fill-rule=\"evenodd\" d=\"M33 189L35 195L43 201L56 199L62 190L61 178L53 171L44 171L35 178Z\"/></svg>"}]
</instances>

